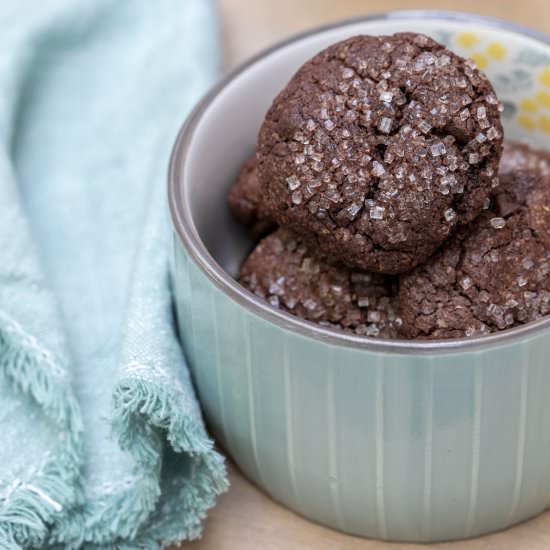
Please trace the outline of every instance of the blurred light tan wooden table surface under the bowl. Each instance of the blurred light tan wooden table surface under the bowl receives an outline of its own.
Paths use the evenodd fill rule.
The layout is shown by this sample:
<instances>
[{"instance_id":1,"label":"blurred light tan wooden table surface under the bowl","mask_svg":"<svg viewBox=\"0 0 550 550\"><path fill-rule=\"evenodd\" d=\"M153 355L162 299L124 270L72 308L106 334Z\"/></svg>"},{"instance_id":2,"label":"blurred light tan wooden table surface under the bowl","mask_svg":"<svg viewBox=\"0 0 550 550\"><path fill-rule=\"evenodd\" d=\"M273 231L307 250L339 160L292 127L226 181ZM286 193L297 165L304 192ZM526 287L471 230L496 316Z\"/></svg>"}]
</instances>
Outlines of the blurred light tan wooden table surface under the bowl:
<instances>
[{"instance_id":1,"label":"blurred light tan wooden table surface under the bowl","mask_svg":"<svg viewBox=\"0 0 550 550\"><path fill-rule=\"evenodd\" d=\"M550 34L550 0L219 0L224 63L231 68L285 36L367 13L432 8L493 15ZM550 511L531 521L469 541L433 545L351 537L294 514L249 483L230 463L231 489L209 513L201 541L188 550L549 550ZM175 550L175 549L174 549Z\"/></svg>"}]
</instances>

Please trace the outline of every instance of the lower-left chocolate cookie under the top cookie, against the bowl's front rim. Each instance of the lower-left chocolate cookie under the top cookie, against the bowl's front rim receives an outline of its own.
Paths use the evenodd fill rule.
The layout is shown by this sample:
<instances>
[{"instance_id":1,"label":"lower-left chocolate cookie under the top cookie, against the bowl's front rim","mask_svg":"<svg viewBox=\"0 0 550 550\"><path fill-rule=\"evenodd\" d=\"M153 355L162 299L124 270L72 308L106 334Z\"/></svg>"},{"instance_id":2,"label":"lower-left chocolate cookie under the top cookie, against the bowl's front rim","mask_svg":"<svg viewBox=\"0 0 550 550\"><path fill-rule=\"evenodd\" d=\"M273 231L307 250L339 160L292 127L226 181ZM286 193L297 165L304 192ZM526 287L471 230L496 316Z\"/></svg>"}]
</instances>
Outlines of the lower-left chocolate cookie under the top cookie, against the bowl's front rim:
<instances>
[{"instance_id":1,"label":"lower-left chocolate cookie under the top cookie, against the bowl's front rim","mask_svg":"<svg viewBox=\"0 0 550 550\"><path fill-rule=\"evenodd\" d=\"M241 268L241 284L273 307L322 325L396 338L395 279L326 262L286 229L263 239Z\"/></svg>"}]
</instances>

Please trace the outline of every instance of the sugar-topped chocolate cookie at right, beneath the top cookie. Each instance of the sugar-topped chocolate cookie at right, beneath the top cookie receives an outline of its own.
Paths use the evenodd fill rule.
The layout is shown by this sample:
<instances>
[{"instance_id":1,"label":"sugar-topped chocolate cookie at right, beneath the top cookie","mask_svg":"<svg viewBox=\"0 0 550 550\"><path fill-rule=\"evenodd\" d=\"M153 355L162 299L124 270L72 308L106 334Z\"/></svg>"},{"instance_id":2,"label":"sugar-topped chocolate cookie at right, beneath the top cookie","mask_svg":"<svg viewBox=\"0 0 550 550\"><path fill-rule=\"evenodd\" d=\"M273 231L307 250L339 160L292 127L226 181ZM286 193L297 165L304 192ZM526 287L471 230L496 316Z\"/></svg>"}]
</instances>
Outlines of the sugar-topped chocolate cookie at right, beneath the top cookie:
<instances>
[{"instance_id":1,"label":"sugar-topped chocolate cookie at right, beneath the top cookie","mask_svg":"<svg viewBox=\"0 0 550 550\"><path fill-rule=\"evenodd\" d=\"M500 176L489 208L425 265L402 275L403 332L462 338L550 313L550 177Z\"/></svg>"}]
</instances>

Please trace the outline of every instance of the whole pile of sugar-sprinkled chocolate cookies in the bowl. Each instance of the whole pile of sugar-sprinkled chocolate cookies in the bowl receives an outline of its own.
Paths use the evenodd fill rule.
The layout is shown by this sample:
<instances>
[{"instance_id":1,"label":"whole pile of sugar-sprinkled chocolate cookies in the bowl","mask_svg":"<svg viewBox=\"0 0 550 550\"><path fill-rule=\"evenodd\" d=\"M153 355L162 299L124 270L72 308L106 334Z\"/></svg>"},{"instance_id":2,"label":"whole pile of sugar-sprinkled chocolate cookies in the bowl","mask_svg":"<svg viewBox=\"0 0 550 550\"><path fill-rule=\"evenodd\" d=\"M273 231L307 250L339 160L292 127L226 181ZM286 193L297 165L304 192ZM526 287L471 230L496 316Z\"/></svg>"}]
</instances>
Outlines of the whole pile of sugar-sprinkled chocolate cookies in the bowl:
<instances>
[{"instance_id":1,"label":"whole pile of sugar-sprinkled chocolate cookies in the bowl","mask_svg":"<svg viewBox=\"0 0 550 550\"><path fill-rule=\"evenodd\" d=\"M550 313L550 154L504 143L472 61L358 36L275 98L230 195L260 242L240 282L303 319L463 338Z\"/></svg>"}]
</instances>

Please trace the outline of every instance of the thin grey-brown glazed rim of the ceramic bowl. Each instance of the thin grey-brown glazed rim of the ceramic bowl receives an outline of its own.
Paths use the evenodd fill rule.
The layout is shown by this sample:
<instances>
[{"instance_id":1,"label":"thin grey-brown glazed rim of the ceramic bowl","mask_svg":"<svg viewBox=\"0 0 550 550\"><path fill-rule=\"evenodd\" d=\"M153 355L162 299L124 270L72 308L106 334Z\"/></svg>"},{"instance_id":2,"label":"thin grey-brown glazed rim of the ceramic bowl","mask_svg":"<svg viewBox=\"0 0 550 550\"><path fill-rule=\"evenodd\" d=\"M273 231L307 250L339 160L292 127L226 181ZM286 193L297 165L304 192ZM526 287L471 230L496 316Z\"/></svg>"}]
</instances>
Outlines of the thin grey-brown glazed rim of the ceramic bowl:
<instances>
[{"instance_id":1,"label":"thin grey-brown glazed rim of the ceramic bowl","mask_svg":"<svg viewBox=\"0 0 550 550\"><path fill-rule=\"evenodd\" d=\"M550 333L550 315L537 321L503 330L501 332L475 336L467 339L457 338L446 340L390 340L359 336L300 319L290 313L286 313L285 311L275 309L270 306L265 300L259 298L241 286L218 264L198 235L193 223L188 201L183 200L185 178L183 177L182 167L187 160L189 146L193 138L194 131L203 114L210 107L211 103L230 82L238 78L251 66L260 63L263 59L267 58L275 51L297 43L312 35L356 23L387 20L406 21L409 19L418 18L447 22L479 23L492 28L504 29L516 34L521 34L522 36L526 35L538 42L542 42L545 46L550 46L550 36L540 31L494 17L459 11L397 10L346 18L327 25L317 26L312 29L308 29L305 32L294 34L285 40L279 41L272 46L265 48L220 79L189 113L178 132L172 149L168 168L168 201L176 235L184 246L186 252L193 259L194 263L224 294L236 301L249 313L258 315L262 319L277 325L283 330L292 331L305 338L312 338L314 340L320 340L333 345L368 350L372 352L425 355L433 353L447 354L462 351L481 351L486 348L499 347L500 345L525 340L528 337L539 336L544 332Z\"/></svg>"}]
</instances>

